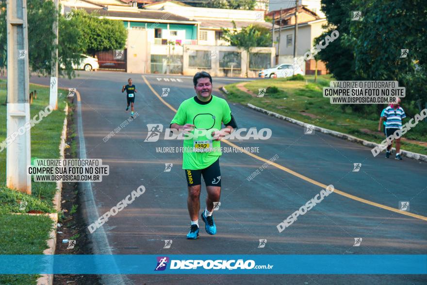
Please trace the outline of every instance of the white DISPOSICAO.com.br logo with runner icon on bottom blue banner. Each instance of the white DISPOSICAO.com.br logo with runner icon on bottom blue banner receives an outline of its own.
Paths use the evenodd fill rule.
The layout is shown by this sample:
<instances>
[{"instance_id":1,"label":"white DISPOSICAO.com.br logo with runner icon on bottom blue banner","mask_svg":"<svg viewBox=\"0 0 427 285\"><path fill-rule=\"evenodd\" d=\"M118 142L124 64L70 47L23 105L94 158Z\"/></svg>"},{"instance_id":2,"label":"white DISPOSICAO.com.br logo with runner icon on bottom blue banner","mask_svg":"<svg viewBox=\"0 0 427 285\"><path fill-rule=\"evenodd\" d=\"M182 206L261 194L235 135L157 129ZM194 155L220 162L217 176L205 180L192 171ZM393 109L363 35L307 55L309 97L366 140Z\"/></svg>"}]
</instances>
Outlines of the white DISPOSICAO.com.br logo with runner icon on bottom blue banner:
<instances>
[{"instance_id":1,"label":"white DISPOSICAO.com.br logo with runner icon on bottom blue banner","mask_svg":"<svg viewBox=\"0 0 427 285\"><path fill-rule=\"evenodd\" d=\"M248 259L217 259L217 260L202 260L202 259L188 259L188 260L169 260L166 256L157 257L157 266L154 271L164 270L167 263L170 261L169 269L272 269L274 265L256 265L255 261Z\"/></svg>"}]
</instances>

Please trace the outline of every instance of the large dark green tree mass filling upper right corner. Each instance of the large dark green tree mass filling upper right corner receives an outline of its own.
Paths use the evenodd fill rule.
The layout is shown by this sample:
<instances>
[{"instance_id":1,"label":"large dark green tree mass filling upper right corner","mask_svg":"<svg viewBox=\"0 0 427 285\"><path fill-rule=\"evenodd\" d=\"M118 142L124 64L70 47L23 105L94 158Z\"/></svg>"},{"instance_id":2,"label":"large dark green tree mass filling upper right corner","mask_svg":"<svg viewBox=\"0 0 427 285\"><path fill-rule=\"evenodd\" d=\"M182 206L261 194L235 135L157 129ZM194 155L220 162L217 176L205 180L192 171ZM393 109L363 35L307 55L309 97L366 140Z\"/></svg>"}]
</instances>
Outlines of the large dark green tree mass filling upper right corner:
<instances>
[{"instance_id":1,"label":"large dark green tree mass filling upper right corner","mask_svg":"<svg viewBox=\"0 0 427 285\"><path fill-rule=\"evenodd\" d=\"M334 29L338 39L318 53L337 80L395 80L406 87L405 105L427 107L427 9L424 0L322 0L328 20L327 31ZM350 12L361 11L361 21L351 21ZM409 49L400 58L401 49ZM380 107L380 106L378 106ZM351 105L356 111L371 110Z\"/></svg>"}]
</instances>

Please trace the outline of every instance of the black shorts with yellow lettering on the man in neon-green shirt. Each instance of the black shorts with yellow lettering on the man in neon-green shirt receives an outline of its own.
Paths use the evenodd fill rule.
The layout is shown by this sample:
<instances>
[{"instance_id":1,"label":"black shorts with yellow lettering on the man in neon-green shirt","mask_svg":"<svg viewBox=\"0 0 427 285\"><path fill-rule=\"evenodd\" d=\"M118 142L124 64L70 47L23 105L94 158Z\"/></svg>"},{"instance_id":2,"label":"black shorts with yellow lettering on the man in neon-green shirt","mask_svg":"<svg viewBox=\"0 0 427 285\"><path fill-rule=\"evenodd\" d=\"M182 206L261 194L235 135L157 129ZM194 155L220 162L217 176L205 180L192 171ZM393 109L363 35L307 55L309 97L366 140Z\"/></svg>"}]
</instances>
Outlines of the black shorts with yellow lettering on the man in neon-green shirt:
<instances>
[{"instance_id":1,"label":"black shorts with yellow lettering on the man in neon-green shirt","mask_svg":"<svg viewBox=\"0 0 427 285\"><path fill-rule=\"evenodd\" d=\"M207 168L198 170L184 169L184 171L188 186L201 185L202 175L206 186L221 186L221 169L219 168L219 157Z\"/></svg>"}]
</instances>

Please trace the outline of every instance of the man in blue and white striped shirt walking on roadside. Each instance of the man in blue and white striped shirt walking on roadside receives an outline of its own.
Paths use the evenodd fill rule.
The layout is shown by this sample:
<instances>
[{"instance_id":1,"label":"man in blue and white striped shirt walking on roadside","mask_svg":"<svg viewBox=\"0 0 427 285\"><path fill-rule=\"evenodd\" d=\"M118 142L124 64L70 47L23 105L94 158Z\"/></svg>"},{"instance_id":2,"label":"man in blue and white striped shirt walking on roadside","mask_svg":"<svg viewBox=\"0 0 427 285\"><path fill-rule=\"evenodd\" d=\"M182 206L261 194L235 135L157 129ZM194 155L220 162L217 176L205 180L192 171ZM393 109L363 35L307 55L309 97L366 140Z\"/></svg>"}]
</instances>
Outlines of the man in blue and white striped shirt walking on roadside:
<instances>
[{"instance_id":1,"label":"man in blue and white striped shirt walking on roadside","mask_svg":"<svg viewBox=\"0 0 427 285\"><path fill-rule=\"evenodd\" d=\"M397 134L394 139L396 140L396 157L395 159L402 160L400 157L400 137L402 135L402 119L405 118L405 111L402 107L400 107L400 98L398 98L396 104L391 104L384 110L383 118L386 121L385 129L386 135L394 136ZM392 141L393 142L393 141ZM385 154L386 158L390 157L390 150L392 148L392 144L390 143L387 146L387 152Z\"/></svg>"}]
</instances>

